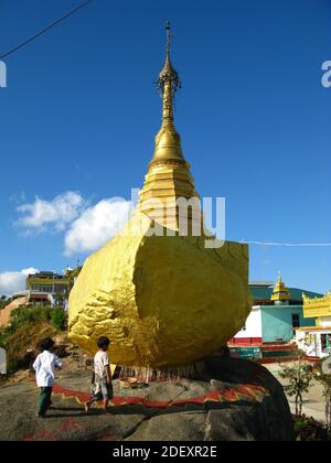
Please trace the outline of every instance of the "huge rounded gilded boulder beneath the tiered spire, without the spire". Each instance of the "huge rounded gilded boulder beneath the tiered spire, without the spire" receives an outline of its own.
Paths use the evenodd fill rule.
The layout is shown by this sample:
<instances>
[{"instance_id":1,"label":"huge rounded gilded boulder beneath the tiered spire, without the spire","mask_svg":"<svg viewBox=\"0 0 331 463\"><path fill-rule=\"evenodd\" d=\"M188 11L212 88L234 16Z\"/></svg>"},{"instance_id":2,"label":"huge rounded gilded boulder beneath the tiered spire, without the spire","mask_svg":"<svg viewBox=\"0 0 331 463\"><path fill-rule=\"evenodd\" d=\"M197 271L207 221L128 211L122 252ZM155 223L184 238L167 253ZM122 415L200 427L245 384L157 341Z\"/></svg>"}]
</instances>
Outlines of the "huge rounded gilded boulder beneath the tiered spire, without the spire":
<instances>
[{"instance_id":1,"label":"huge rounded gilded boulder beneath the tiered spire, without the spire","mask_svg":"<svg viewBox=\"0 0 331 463\"><path fill-rule=\"evenodd\" d=\"M70 297L70 337L94 354L98 336L108 336L119 365L188 365L225 346L245 323L248 247L207 249L205 237L152 229L136 212L87 259Z\"/></svg>"}]
</instances>

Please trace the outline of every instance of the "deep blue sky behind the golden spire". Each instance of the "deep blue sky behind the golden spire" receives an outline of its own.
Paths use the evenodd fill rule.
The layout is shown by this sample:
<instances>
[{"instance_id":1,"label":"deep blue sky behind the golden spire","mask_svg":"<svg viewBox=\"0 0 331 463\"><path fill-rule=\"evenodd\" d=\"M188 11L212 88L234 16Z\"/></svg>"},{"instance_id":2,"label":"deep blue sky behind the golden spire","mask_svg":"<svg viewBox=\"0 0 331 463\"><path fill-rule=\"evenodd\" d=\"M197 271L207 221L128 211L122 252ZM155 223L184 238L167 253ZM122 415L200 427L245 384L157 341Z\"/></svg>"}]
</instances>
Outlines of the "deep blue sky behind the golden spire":
<instances>
[{"instance_id":1,"label":"deep blue sky behind the golden spire","mask_svg":"<svg viewBox=\"0 0 331 463\"><path fill-rule=\"evenodd\" d=\"M78 3L0 1L0 54ZM226 197L227 239L331 243L331 1L94 0L4 60L0 292L1 274L83 261L124 213L110 198L142 185L166 20L183 83L175 125L199 193ZM325 292L331 247L250 246L250 280L279 269Z\"/></svg>"}]
</instances>

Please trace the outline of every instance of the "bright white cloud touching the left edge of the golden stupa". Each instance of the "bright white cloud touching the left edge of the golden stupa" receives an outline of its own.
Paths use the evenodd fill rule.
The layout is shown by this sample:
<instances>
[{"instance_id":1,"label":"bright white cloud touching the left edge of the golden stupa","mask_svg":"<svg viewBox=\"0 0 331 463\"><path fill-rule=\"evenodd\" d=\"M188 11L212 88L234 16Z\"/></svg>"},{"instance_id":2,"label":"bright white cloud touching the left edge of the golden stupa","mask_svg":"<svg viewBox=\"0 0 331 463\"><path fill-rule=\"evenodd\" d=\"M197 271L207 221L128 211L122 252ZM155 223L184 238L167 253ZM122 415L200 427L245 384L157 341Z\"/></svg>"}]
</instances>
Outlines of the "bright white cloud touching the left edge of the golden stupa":
<instances>
[{"instance_id":1,"label":"bright white cloud touching the left edge of the golden stupa","mask_svg":"<svg viewBox=\"0 0 331 463\"><path fill-rule=\"evenodd\" d=\"M90 252L103 247L129 218L131 202L108 198L87 208L65 236L65 255Z\"/></svg>"}]
</instances>

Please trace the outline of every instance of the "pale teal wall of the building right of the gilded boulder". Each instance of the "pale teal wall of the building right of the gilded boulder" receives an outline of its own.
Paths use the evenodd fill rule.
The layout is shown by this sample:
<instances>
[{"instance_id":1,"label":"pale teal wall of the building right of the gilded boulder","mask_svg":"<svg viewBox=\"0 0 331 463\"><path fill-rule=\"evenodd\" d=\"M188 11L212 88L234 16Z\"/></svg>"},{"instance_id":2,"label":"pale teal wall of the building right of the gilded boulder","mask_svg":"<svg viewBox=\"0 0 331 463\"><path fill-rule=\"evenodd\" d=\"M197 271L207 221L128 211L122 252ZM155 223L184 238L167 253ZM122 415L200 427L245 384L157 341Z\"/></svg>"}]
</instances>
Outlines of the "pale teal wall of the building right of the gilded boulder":
<instances>
[{"instance_id":1,"label":"pale teal wall of the building right of the gilded boulder","mask_svg":"<svg viewBox=\"0 0 331 463\"><path fill-rule=\"evenodd\" d=\"M292 314L300 317L300 326L314 326L314 319L305 319L302 305L263 305L261 325L263 341L273 343L275 341L290 341L293 337Z\"/></svg>"}]
</instances>

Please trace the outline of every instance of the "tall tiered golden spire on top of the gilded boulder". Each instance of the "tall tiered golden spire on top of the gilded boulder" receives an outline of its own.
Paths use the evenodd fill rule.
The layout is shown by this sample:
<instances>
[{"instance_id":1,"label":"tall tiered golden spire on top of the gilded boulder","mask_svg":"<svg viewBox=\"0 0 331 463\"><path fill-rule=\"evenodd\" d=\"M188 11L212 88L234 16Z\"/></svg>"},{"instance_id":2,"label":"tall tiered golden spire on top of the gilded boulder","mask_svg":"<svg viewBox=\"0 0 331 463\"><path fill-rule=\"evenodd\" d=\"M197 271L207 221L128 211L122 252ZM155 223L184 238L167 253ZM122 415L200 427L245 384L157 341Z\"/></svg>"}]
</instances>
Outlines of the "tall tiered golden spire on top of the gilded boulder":
<instances>
[{"instance_id":1,"label":"tall tiered golden spire on top of the gilded boulder","mask_svg":"<svg viewBox=\"0 0 331 463\"><path fill-rule=\"evenodd\" d=\"M182 153L180 136L173 123L173 98L181 82L171 63L169 22L166 24L166 63L158 79L158 89L163 105L162 125L156 137L154 155L140 192L140 209L162 226L179 230L181 220L177 201L179 198L196 198L194 212L193 207L188 212L189 225L192 228L194 223L202 228L199 195L194 189L190 165ZM153 198L158 206L152 204ZM159 207L160 202L163 204L162 209Z\"/></svg>"}]
</instances>

